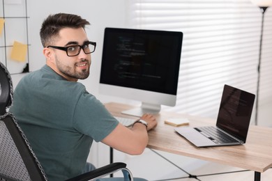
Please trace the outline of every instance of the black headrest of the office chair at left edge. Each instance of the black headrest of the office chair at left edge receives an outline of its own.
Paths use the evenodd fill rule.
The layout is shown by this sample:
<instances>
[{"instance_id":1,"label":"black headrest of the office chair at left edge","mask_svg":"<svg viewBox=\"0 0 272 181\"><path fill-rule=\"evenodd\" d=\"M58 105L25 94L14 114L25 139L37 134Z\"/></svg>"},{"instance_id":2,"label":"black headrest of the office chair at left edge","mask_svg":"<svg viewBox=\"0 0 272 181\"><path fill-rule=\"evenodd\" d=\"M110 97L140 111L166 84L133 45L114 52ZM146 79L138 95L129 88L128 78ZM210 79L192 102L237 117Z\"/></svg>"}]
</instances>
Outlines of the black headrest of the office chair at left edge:
<instances>
[{"instance_id":1,"label":"black headrest of the office chair at left edge","mask_svg":"<svg viewBox=\"0 0 272 181\"><path fill-rule=\"evenodd\" d=\"M6 108L13 102L13 83L10 73L0 62L0 115L6 113Z\"/></svg>"}]
</instances>

